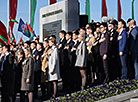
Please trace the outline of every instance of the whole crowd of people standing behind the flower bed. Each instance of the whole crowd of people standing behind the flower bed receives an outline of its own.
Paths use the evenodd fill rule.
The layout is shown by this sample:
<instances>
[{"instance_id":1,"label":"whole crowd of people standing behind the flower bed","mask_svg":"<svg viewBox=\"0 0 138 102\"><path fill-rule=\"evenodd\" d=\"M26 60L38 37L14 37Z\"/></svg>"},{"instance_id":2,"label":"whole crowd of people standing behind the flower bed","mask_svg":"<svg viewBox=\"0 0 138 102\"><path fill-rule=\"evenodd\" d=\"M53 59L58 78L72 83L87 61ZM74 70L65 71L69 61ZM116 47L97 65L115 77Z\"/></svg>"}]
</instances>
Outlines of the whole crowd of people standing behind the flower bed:
<instances>
[{"instance_id":1,"label":"whole crowd of people standing behind the flower bed","mask_svg":"<svg viewBox=\"0 0 138 102\"><path fill-rule=\"evenodd\" d=\"M128 25L128 26L127 26ZM2 102L56 97L58 80L62 92L72 93L115 79L138 80L138 27L123 19L92 22L72 32L39 37L18 45L0 46ZM127 26L127 27L126 27ZM42 96L38 95L40 85Z\"/></svg>"}]
</instances>

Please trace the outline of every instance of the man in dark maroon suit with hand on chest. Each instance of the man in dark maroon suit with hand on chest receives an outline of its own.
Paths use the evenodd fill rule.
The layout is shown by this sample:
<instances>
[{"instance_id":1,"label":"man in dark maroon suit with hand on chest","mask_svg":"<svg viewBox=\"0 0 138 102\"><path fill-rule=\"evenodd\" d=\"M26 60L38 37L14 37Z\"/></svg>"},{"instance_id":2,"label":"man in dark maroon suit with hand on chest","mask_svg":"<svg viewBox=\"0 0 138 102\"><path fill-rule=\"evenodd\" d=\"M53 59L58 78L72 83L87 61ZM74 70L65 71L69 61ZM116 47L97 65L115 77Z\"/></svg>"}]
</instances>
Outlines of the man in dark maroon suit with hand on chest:
<instances>
[{"instance_id":1,"label":"man in dark maroon suit with hand on chest","mask_svg":"<svg viewBox=\"0 0 138 102\"><path fill-rule=\"evenodd\" d=\"M100 56L102 57L103 68L104 68L104 83L109 81L108 72L108 48L109 48L109 34L107 33L107 24L101 23L100 25L101 39L100 39Z\"/></svg>"}]
</instances>

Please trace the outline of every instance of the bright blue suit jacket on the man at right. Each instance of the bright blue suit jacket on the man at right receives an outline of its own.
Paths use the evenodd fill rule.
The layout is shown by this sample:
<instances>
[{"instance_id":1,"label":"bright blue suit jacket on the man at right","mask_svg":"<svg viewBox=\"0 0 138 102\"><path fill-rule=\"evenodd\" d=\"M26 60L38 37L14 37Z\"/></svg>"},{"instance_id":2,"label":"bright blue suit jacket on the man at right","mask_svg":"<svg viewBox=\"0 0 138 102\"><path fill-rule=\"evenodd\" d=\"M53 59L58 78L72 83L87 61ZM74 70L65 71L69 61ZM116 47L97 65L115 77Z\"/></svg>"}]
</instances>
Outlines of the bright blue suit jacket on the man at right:
<instances>
[{"instance_id":1,"label":"bright blue suit jacket on the man at right","mask_svg":"<svg viewBox=\"0 0 138 102\"><path fill-rule=\"evenodd\" d=\"M127 32L123 30L120 34L122 36L122 39L119 40L119 52L127 53L128 52L128 46L127 46Z\"/></svg>"}]
</instances>

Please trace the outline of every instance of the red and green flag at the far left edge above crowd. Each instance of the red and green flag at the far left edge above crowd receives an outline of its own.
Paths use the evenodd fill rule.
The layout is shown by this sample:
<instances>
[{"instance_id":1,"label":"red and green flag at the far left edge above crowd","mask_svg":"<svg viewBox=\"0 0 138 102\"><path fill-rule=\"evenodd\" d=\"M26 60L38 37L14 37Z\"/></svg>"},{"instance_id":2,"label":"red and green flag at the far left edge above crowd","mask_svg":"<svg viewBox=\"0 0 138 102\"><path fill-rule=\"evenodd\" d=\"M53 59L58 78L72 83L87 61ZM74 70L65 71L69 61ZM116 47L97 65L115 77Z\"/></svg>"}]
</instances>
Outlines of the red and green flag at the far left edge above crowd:
<instances>
[{"instance_id":1,"label":"red and green flag at the far left edge above crowd","mask_svg":"<svg viewBox=\"0 0 138 102\"><path fill-rule=\"evenodd\" d=\"M0 45L8 44L8 34L5 25L0 21Z\"/></svg>"}]
</instances>

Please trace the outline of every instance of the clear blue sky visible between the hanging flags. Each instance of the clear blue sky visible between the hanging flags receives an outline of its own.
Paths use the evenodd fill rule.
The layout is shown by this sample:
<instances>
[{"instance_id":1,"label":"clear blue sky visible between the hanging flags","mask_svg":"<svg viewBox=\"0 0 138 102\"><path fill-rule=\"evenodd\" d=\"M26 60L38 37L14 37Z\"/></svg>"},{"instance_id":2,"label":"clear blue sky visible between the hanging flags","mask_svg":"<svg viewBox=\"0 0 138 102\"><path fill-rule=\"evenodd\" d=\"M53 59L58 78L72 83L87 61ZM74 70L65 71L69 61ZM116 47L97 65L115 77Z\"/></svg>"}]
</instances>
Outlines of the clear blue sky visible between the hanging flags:
<instances>
[{"instance_id":1,"label":"clear blue sky visible between the hanging flags","mask_svg":"<svg viewBox=\"0 0 138 102\"><path fill-rule=\"evenodd\" d=\"M57 0L60 2L63 0ZM73 0L72 0L73 1ZM78 0L80 2L80 14L85 14L85 0ZM112 16L117 19L117 1L118 0L106 0L108 16ZM122 6L122 18L127 21L128 18L131 18L131 6L132 0L121 0ZM101 3L102 0L90 0L90 10L91 10L91 19L94 21L101 21ZM34 21L34 30L36 35L39 35L39 20L40 20L40 8L49 5L49 0L37 0L35 21ZM135 0L134 12L135 20L138 22L138 0ZM18 0L17 6L17 16L16 20L22 18L24 22L29 22L29 0ZM8 0L1 0L0 3L0 20L5 24L6 27L8 24ZM16 41L19 41L19 38L23 36L22 33L18 31L18 24L14 24L13 33L15 35ZM24 40L28 40L27 37L23 36Z\"/></svg>"}]
</instances>

